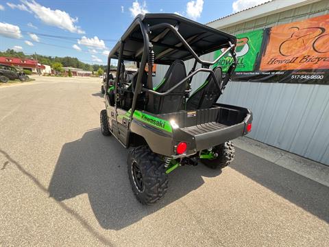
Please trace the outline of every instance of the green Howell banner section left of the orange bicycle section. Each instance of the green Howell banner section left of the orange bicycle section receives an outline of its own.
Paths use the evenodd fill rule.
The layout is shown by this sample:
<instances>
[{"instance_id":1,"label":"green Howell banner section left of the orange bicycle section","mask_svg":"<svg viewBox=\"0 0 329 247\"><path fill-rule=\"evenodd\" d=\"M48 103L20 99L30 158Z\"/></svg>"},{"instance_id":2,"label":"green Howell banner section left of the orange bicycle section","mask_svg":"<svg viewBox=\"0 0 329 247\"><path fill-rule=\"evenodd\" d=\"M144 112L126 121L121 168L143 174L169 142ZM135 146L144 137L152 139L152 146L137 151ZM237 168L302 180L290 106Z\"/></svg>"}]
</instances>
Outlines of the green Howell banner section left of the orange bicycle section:
<instances>
[{"instance_id":1,"label":"green Howell banner section left of the orange bicycle section","mask_svg":"<svg viewBox=\"0 0 329 247\"><path fill-rule=\"evenodd\" d=\"M238 64L235 71L254 71L256 59L263 41L263 30L237 34L236 38L236 57L238 59ZM223 51L224 49L215 51L214 60L218 58ZM223 72L226 72L232 62L232 56L226 54L214 65L214 67L221 66Z\"/></svg>"}]
</instances>

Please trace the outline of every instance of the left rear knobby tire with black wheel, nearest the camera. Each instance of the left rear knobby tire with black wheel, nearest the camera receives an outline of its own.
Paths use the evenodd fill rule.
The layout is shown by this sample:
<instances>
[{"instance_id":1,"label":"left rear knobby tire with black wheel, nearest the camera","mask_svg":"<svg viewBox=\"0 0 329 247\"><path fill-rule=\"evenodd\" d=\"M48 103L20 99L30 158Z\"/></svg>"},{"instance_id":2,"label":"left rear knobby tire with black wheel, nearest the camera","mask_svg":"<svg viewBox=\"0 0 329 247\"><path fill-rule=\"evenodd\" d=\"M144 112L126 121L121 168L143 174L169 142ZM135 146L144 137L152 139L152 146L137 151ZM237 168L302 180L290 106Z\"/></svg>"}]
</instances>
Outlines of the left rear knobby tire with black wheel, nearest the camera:
<instances>
[{"instance_id":1,"label":"left rear knobby tire with black wheel, nearest the camera","mask_svg":"<svg viewBox=\"0 0 329 247\"><path fill-rule=\"evenodd\" d=\"M130 150L127 168L132 191L139 202L149 205L164 197L168 189L168 175L163 161L147 146Z\"/></svg>"}]
</instances>

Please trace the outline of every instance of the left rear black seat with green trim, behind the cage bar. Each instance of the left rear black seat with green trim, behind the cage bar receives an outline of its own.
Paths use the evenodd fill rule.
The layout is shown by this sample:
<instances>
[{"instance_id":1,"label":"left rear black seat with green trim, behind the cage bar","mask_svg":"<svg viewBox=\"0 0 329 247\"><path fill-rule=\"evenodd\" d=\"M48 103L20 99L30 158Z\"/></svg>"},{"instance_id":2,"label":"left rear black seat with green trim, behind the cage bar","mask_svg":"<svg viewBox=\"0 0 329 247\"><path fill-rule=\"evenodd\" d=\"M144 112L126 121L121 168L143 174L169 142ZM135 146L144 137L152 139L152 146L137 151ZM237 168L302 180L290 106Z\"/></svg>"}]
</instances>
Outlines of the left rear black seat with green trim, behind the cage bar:
<instances>
[{"instance_id":1,"label":"left rear black seat with green trim, behind the cage bar","mask_svg":"<svg viewBox=\"0 0 329 247\"><path fill-rule=\"evenodd\" d=\"M163 80L154 87L154 91L164 93L173 88L178 82L186 78L186 69L182 60L175 60L169 67ZM148 103L146 110L150 113L175 113L184 109L184 95L186 83L182 83L168 95L158 96L148 93Z\"/></svg>"}]
</instances>

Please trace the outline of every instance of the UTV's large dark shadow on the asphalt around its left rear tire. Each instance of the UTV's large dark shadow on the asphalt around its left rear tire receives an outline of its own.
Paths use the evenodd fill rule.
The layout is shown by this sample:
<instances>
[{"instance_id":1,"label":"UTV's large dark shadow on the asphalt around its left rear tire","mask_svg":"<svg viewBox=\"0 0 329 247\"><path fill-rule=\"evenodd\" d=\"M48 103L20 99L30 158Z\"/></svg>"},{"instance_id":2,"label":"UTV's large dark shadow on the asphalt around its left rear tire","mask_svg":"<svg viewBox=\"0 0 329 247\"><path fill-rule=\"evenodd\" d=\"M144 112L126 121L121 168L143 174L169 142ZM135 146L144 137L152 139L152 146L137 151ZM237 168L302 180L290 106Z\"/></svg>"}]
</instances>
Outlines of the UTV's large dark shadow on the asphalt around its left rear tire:
<instances>
[{"instance_id":1,"label":"UTV's large dark shadow on the asphalt around its left rear tire","mask_svg":"<svg viewBox=\"0 0 329 247\"><path fill-rule=\"evenodd\" d=\"M49 183L49 196L58 201L88 193L99 224L119 230L182 198L204 184L202 176L221 174L198 165L180 167L169 174L169 189L163 200L149 207L141 205L127 177L127 150L114 137L90 130L82 139L66 143Z\"/></svg>"}]
</instances>

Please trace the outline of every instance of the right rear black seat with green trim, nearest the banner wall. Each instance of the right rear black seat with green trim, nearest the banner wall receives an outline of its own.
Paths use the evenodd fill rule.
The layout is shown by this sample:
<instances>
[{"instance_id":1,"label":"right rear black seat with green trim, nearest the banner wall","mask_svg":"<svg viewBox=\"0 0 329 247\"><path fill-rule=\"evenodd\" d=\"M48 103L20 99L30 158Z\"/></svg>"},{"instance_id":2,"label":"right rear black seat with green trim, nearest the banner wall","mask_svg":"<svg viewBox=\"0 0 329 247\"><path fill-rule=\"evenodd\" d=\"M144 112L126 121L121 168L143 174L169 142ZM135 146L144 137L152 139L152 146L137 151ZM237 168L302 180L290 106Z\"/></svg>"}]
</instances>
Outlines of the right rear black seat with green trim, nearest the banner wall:
<instances>
[{"instance_id":1,"label":"right rear black seat with green trim, nearest the banner wall","mask_svg":"<svg viewBox=\"0 0 329 247\"><path fill-rule=\"evenodd\" d=\"M216 80L221 84L221 67L216 67L214 69ZM220 91L215 84L215 80L212 78L211 74L202 84L199 89L197 89L187 100L186 110L197 110L210 108L215 104L220 96Z\"/></svg>"}]
</instances>

